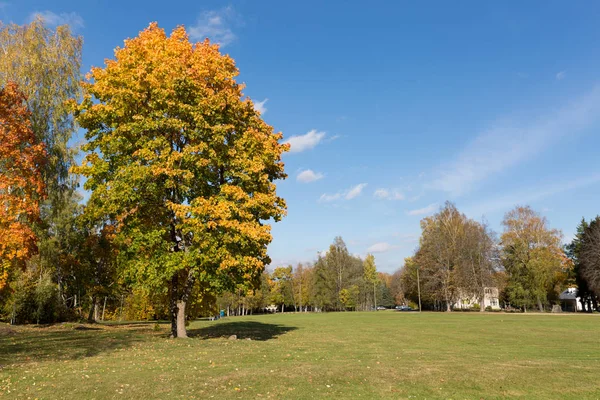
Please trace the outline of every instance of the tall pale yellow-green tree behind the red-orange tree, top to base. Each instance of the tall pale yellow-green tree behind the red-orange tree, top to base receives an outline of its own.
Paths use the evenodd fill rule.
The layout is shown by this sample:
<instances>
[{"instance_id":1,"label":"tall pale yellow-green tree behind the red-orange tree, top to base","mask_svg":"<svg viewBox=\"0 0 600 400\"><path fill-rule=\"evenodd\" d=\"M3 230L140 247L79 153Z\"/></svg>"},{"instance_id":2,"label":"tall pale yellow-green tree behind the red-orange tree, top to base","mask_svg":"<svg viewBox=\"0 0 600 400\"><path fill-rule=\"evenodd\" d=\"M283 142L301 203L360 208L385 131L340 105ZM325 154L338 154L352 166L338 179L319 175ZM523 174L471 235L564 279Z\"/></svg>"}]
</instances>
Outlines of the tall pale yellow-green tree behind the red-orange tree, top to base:
<instances>
[{"instance_id":1,"label":"tall pale yellow-green tree behind the red-orange tree, top to base","mask_svg":"<svg viewBox=\"0 0 600 400\"><path fill-rule=\"evenodd\" d=\"M71 241L70 229L63 228L66 221L76 217L67 213L76 208L71 200L77 184L69 174L75 151L68 142L75 124L67 103L81 93L82 43L83 39L74 36L67 25L50 29L40 18L22 26L0 21L0 87L8 82L18 84L30 111L28 119L36 143L44 144L46 149L45 162L40 166L46 197L39 203L40 220L33 227L39 252L27 268L36 269L34 275L44 276L46 289L48 282L56 286L53 290L58 298L53 300L59 301L63 311L64 272L72 269L74 257L72 249L61 245ZM13 296L19 295L13 291ZM73 298L73 304L78 304L77 296Z\"/></svg>"}]
</instances>

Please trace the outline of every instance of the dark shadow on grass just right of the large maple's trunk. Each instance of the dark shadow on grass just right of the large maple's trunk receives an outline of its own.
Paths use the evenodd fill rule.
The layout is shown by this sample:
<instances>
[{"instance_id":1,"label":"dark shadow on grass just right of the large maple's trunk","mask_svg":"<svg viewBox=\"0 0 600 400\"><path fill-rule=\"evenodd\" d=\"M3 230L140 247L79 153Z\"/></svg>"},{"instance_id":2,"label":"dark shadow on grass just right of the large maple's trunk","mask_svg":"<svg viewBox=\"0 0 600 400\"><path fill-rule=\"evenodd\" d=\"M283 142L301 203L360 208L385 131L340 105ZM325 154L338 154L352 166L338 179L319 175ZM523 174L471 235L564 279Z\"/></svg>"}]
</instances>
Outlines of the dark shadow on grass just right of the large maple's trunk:
<instances>
[{"instance_id":1,"label":"dark shadow on grass just right of the large maple's trunk","mask_svg":"<svg viewBox=\"0 0 600 400\"><path fill-rule=\"evenodd\" d=\"M217 322L213 325L188 330L188 336L201 339L227 338L236 335L238 339L271 340L284 333L298 329L295 326L265 324L256 321Z\"/></svg>"}]
</instances>

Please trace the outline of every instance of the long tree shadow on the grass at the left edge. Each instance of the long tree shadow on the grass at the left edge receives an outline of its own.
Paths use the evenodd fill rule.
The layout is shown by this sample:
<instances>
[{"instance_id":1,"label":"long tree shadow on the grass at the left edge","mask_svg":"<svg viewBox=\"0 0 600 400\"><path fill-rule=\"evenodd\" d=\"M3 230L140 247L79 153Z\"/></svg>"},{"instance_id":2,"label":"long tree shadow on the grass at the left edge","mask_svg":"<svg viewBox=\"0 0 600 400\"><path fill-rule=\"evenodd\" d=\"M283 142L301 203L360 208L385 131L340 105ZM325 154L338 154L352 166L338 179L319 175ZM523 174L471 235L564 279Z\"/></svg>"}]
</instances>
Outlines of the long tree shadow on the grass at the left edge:
<instances>
[{"instance_id":1,"label":"long tree shadow on the grass at the left edge","mask_svg":"<svg viewBox=\"0 0 600 400\"><path fill-rule=\"evenodd\" d=\"M12 335L0 335L0 365L92 357L102 352L130 347L155 334L151 329L85 325L19 327L15 332Z\"/></svg>"}]
</instances>

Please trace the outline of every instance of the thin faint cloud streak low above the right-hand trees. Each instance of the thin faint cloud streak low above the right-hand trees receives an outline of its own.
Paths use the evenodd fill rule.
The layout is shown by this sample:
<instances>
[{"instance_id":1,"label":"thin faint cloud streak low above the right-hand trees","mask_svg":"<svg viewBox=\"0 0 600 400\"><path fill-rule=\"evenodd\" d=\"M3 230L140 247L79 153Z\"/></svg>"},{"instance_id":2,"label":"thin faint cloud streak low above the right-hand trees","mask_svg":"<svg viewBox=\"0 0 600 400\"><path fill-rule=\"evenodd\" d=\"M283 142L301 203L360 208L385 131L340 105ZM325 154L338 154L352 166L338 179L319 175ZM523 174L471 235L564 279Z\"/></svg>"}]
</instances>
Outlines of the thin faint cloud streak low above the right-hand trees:
<instances>
[{"instance_id":1,"label":"thin faint cloud streak low above the right-hand trees","mask_svg":"<svg viewBox=\"0 0 600 400\"><path fill-rule=\"evenodd\" d=\"M490 201L478 202L476 205L466 207L465 210L467 215L479 217L495 211L509 210L518 204L532 203L552 197L559 193L568 192L597 183L600 183L600 173L579 179L566 179L564 182L558 182L551 185L523 189L509 195L495 197ZM545 209L547 210L547 208Z\"/></svg>"}]
</instances>

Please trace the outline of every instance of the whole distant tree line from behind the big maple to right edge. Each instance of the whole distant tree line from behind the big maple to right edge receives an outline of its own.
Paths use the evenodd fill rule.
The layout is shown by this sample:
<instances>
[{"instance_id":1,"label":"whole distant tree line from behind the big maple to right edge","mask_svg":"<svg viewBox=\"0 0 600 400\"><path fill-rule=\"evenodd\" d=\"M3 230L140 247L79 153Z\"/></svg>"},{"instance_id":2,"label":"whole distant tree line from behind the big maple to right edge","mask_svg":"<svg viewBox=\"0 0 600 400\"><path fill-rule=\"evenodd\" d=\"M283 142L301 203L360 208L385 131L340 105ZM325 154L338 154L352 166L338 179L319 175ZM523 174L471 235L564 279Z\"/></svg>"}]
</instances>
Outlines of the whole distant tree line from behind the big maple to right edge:
<instances>
[{"instance_id":1,"label":"whole distant tree line from behind the big maple to right edge","mask_svg":"<svg viewBox=\"0 0 600 400\"><path fill-rule=\"evenodd\" d=\"M462 302L485 311L486 290L497 289L505 310L540 312L578 288L584 311L598 309L600 217L581 221L567 245L562 233L528 206L506 213L498 235L447 202L421 221L414 255L393 274L377 272L375 258L351 255L338 237L314 263L264 272L258 291L225 293L217 302L234 315L271 311L364 311L410 305L452 311ZM420 299L419 299L420 294Z\"/></svg>"}]
</instances>

